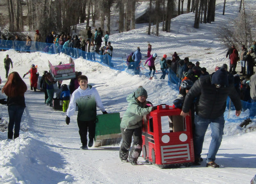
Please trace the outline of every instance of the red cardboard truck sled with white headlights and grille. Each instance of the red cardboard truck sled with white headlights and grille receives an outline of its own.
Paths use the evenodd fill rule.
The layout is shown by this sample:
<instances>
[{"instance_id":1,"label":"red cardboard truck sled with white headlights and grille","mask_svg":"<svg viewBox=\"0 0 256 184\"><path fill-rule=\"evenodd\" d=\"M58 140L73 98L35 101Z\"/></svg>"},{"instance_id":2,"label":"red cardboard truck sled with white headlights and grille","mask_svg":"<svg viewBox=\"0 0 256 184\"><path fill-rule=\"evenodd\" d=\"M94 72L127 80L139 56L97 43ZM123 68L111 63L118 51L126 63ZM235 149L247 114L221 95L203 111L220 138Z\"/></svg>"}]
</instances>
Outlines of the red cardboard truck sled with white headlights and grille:
<instances>
[{"instance_id":1,"label":"red cardboard truck sled with white headlights and grille","mask_svg":"<svg viewBox=\"0 0 256 184\"><path fill-rule=\"evenodd\" d=\"M190 165L195 161L191 116L181 109L160 105L143 120L143 158L160 168Z\"/></svg>"}]
</instances>

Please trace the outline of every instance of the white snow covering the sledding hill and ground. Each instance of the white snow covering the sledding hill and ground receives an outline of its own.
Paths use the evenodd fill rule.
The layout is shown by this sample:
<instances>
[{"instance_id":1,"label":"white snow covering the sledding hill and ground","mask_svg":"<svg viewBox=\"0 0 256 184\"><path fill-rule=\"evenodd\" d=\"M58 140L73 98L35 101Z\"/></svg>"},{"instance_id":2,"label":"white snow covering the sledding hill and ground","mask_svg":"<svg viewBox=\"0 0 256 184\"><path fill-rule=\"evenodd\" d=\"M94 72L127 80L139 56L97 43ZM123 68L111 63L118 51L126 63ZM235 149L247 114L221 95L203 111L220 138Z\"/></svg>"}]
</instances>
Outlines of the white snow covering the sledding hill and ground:
<instances>
[{"instance_id":1,"label":"white snow covering the sledding hill and ground","mask_svg":"<svg viewBox=\"0 0 256 184\"><path fill-rule=\"evenodd\" d=\"M253 1L251 1L253 2ZM147 27L136 25L135 30L116 33L110 36L113 45L115 69L99 62L90 62L82 58L75 60L76 71L88 76L99 92L107 112L120 112L122 117L127 109L126 97L142 85L148 92L148 100L154 105L170 104L177 97L177 87L168 86L168 81L159 80L160 65L156 62L157 78L148 80L144 68L141 75L130 75L125 69L122 58L140 47L143 55L147 52L147 42L152 44L152 53L163 54L168 58L176 51L180 58L189 57L190 61L199 61L201 67L213 71L217 65L228 64L224 57L227 48L220 45L216 38L217 28L237 16L239 1L228 1L226 15L222 16L223 4L216 7L215 22L200 24L193 28L194 14L188 13L172 19L171 33L160 31L159 37L147 35ZM154 30L154 28L153 28ZM68 63L64 54L17 53L14 50L1 51L0 58L9 54L14 62L12 71L22 76L31 64L38 65L40 75L49 70L48 60L53 65ZM238 65L238 67L240 67ZM118 69L118 70L117 70ZM3 64L0 65L2 84L6 79ZM222 144L217 153L216 162L220 168L206 168L206 155L211 141L211 130L205 136L201 166L160 169L146 163L139 157L138 166L122 163L119 159L119 146L103 146L79 150L81 146L76 114L69 125L65 123L66 113L53 111L44 104L44 94L29 89L28 75L25 77L28 90L25 93L26 109L23 113L20 137L7 140L7 131L0 132L0 183L20 184L67 184L67 183L249 183L256 174L256 131L242 129L238 125L248 115L242 112L225 112L225 129ZM69 81L63 81L69 84ZM98 114L101 114L98 111ZM0 105L1 126L9 121L7 106ZM255 120L251 126L255 127Z\"/></svg>"}]
</instances>

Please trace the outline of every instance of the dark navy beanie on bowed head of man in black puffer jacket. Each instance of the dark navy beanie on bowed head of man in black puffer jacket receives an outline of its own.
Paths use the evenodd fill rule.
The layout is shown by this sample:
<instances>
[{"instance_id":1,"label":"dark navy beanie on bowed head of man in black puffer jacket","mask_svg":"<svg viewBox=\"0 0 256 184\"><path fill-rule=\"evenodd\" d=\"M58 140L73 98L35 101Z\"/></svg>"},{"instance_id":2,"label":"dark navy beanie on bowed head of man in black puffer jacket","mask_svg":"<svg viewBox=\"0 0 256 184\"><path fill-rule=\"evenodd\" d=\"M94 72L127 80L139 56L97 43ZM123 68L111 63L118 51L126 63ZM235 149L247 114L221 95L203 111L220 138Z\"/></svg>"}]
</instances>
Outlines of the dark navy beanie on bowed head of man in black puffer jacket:
<instances>
[{"instance_id":1,"label":"dark navy beanie on bowed head of man in black puffer jacket","mask_svg":"<svg viewBox=\"0 0 256 184\"><path fill-rule=\"evenodd\" d=\"M229 86L227 72L224 68L218 69L211 77L211 84L220 84L222 87Z\"/></svg>"}]
</instances>

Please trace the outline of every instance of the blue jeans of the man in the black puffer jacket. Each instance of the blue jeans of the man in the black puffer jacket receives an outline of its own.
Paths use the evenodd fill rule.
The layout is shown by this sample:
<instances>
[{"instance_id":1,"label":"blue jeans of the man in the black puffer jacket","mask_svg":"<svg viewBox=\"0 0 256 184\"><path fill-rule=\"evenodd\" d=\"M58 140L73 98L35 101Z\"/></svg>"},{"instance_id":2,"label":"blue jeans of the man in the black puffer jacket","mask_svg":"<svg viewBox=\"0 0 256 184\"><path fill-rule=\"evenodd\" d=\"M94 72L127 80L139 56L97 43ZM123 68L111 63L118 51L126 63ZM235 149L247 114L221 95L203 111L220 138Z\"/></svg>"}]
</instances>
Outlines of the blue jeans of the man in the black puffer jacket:
<instances>
[{"instance_id":1,"label":"blue jeans of the man in the black puffer jacket","mask_svg":"<svg viewBox=\"0 0 256 184\"><path fill-rule=\"evenodd\" d=\"M200 117L199 115L195 115L195 131L194 131L194 152L195 152L195 159L201 157L203 142L204 142L204 135L210 124L211 127L211 143L209 146L208 154L206 157L206 162L215 161L215 157L217 151L219 150L220 143L222 141L223 129L224 129L224 116L221 115L215 119L206 119Z\"/></svg>"}]
</instances>

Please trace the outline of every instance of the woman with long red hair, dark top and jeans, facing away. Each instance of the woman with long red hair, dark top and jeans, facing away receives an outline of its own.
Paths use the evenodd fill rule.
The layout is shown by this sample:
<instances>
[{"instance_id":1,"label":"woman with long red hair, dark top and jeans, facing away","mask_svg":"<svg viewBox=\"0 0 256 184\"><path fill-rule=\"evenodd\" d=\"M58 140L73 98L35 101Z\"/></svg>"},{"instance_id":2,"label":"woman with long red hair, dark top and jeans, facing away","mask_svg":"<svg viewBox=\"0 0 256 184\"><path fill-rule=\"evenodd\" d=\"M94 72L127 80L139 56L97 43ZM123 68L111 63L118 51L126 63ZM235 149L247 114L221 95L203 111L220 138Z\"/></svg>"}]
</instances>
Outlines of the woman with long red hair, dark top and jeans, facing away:
<instances>
[{"instance_id":1,"label":"woman with long red hair, dark top and jeans, facing away","mask_svg":"<svg viewBox=\"0 0 256 184\"><path fill-rule=\"evenodd\" d=\"M8 139L14 139L20 135L20 121L26 107L24 93L27 85L20 78L18 72L11 72L2 92L7 95L7 106L9 113ZM15 128L14 128L15 124ZM13 132L14 128L14 132Z\"/></svg>"}]
</instances>

